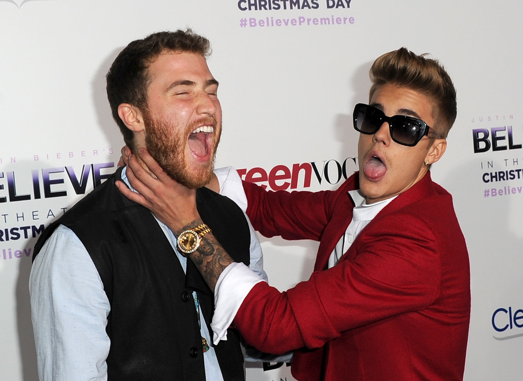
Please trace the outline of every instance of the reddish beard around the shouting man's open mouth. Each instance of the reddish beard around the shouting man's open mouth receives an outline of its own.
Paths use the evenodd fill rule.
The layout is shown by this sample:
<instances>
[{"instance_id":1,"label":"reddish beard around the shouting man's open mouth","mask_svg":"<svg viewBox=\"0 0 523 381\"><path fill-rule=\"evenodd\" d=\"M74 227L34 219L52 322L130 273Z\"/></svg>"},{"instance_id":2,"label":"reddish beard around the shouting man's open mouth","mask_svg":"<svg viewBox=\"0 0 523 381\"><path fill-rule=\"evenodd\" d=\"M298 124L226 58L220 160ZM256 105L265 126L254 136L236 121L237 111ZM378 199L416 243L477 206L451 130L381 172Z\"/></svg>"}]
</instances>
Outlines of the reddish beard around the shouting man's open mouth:
<instances>
[{"instance_id":1,"label":"reddish beard around the shouting man's open mouth","mask_svg":"<svg viewBox=\"0 0 523 381\"><path fill-rule=\"evenodd\" d=\"M164 172L177 183L191 189L201 188L212 178L214 169L214 156L220 136L214 139L211 149L211 160L189 166L185 158L185 147L187 138L198 126L208 122L208 118L202 118L192 122L185 131L167 119L154 119L148 112L143 113L146 126L145 145L153 158L162 167ZM211 117L212 123L216 121ZM215 128L215 133L218 129Z\"/></svg>"}]
</instances>

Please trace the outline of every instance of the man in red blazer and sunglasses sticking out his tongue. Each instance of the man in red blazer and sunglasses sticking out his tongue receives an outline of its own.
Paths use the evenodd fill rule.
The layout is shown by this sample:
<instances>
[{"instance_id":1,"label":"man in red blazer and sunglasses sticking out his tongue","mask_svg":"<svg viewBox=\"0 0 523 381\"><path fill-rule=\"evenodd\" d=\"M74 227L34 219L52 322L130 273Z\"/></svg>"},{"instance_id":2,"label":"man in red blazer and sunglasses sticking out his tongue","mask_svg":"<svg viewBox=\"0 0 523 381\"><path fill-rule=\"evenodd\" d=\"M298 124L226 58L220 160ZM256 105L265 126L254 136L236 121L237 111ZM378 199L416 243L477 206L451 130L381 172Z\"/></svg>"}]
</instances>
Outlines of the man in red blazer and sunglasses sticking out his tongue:
<instances>
[{"instance_id":1,"label":"man in red blazer and sunglasses sticking out his tongue","mask_svg":"<svg viewBox=\"0 0 523 381\"><path fill-rule=\"evenodd\" d=\"M316 193L243 183L264 236L320 241L310 279L287 292L232 263L212 232L195 231L196 208L172 196L177 184L146 151L157 178L131 156L140 195L128 196L177 233L214 289L215 341L232 321L261 351L295 350L300 381L462 380L469 258L452 198L429 171L445 152L456 91L436 60L404 48L378 58L370 76L369 105L354 110L359 172Z\"/></svg>"}]
</instances>

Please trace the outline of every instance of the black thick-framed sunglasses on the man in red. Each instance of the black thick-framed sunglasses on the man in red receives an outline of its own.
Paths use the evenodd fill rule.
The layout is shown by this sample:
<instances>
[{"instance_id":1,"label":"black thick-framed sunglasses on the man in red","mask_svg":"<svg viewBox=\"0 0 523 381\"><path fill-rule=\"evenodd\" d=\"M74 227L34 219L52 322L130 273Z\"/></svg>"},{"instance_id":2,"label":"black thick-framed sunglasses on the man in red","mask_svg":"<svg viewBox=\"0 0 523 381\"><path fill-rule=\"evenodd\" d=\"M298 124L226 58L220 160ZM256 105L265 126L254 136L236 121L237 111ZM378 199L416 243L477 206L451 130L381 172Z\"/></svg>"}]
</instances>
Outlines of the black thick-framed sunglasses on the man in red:
<instances>
[{"instance_id":1,"label":"black thick-framed sunglasses on the man in red","mask_svg":"<svg viewBox=\"0 0 523 381\"><path fill-rule=\"evenodd\" d=\"M383 123L387 122L392 140L408 147L414 147L425 135L428 135L430 129L421 119L406 115L388 117L379 108L363 103L358 103L354 107L353 118L356 131L367 135L378 132Z\"/></svg>"}]
</instances>

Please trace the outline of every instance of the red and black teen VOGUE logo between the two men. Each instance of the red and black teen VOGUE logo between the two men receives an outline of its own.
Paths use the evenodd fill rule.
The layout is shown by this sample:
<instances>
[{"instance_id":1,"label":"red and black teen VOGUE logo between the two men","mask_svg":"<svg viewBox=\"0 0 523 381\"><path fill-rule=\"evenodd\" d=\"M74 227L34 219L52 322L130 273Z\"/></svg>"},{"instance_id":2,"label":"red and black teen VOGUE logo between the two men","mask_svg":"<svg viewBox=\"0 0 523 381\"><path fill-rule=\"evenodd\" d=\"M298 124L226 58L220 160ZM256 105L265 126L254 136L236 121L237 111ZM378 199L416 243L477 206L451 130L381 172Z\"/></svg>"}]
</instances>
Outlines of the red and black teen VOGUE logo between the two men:
<instances>
[{"instance_id":1,"label":"red and black teen VOGUE logo between the two men","mask_svg":"<svg viewBox=\"0 0 523 381\"><path fill-rule=\"evenodd\" d=\"M238 169L242 178L250 183L256 183L264 189L293 190L310 188L312 181L320 185L335 185L358 170L356 158L346 158L343 161L329 159L308 163L296 163L291 166L276 165L269 170L261 167Z\"/></svg>"}]
</instances>

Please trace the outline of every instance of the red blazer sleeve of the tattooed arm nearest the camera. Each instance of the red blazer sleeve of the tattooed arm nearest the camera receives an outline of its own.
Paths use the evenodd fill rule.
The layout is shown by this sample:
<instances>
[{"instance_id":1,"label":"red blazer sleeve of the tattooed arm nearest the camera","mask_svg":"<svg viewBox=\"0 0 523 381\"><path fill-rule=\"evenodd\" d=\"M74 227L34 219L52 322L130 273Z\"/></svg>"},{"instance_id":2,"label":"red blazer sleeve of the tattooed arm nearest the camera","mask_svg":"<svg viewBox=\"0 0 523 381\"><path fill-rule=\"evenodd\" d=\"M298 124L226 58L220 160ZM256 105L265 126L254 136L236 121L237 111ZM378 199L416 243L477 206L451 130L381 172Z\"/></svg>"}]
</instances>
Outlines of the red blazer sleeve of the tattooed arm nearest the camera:
<instances>
[{"instance_id":1,"label":"red blazer sleeve of the tattooed arm nearest the camera","mask_svg":"<svg viewBox=\"0 0 523 381\"><path fill-rule=\"evenodd\" d=\"M261 351L318 348L344 331L429 306L440 279L435 233L397 213L371 222L336 266L287 292L256 284L234 324Z\"/></svg>"}]
</instances>

